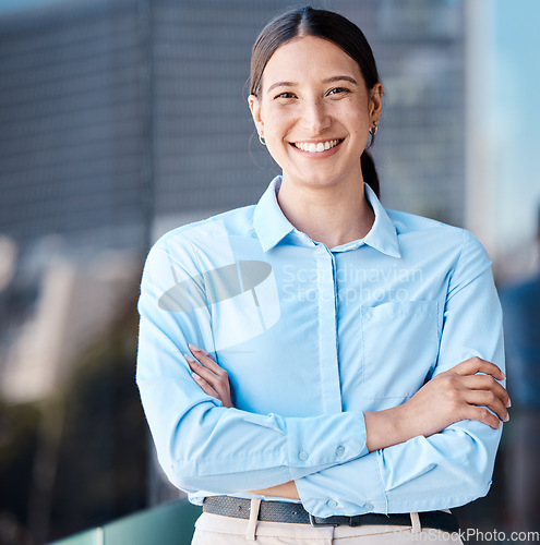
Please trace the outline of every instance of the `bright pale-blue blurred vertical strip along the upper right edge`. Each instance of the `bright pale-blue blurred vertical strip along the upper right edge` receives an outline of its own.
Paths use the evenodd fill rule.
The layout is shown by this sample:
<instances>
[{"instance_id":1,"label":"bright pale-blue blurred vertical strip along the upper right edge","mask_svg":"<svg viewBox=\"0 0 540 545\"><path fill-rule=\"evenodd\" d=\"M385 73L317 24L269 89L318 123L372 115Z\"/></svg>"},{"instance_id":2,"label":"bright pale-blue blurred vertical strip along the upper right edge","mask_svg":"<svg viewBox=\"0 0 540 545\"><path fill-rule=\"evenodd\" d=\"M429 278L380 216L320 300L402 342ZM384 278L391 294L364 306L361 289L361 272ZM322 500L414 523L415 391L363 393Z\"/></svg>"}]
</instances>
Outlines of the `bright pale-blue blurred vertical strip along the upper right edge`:
<instances>
[{"instance_id":1,"label":"bright pale-blue blurred vertical strip along the upper right edge","mask_svg":"<svg viewBox=\"0 0 540 545\"><path fill-rule=\"evenodd\" d=\"M464 2L467 28L466 226L487 246L499 281L531 274L540 179L535 0Z\"/></svg>"}]
</instances>

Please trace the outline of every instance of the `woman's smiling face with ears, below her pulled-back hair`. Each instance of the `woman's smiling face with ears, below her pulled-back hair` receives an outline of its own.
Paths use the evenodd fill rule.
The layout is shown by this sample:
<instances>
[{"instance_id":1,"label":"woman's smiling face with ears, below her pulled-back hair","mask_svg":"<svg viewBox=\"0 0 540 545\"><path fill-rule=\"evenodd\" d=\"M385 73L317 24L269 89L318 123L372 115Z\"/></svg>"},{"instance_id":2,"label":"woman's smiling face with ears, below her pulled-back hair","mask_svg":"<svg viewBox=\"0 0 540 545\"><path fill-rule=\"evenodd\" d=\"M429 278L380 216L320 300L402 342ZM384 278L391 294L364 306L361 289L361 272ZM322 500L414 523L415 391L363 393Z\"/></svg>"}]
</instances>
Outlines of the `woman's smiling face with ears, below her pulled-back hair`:
<instances>
[{"instance_id":1,"label":"woman's smiling face with ears, below her pulled-back hair","mask_svg":"<svg viewBox=\"0 0 540 545\"><path fill-rule=\"evenodd\" d=\"M381 113L382 85L365 88L357 62L313 36L279 46L250 108L284 181L333 185L362 179L360 156Z\"/></svg>"}]
</instances>

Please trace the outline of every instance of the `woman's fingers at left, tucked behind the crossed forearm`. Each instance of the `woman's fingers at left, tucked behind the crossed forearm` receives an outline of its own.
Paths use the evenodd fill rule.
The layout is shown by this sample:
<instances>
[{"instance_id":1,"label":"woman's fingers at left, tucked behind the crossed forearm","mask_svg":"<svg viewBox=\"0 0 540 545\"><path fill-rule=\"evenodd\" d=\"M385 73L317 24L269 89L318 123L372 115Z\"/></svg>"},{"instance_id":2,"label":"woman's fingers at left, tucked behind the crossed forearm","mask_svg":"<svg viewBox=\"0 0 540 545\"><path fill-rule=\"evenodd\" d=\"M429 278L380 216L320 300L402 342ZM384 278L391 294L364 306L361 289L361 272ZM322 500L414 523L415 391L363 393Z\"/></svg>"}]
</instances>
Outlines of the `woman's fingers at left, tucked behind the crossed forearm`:
<instances>
[{"instance_id":1,"label":"woman's fingers at left, tucked behind the crossed forearm","mask_svg":"<svg viewBox=\"0 0 540 545\"><path fill-rule=\"evenodd\" d=\"M224 407L231 408L230 383L227 372L220 367L204 350L189 344L194 358L184 354L185 361L193 374L191 375L201 389L219 399Z\"/></svg>"}]
</instances>

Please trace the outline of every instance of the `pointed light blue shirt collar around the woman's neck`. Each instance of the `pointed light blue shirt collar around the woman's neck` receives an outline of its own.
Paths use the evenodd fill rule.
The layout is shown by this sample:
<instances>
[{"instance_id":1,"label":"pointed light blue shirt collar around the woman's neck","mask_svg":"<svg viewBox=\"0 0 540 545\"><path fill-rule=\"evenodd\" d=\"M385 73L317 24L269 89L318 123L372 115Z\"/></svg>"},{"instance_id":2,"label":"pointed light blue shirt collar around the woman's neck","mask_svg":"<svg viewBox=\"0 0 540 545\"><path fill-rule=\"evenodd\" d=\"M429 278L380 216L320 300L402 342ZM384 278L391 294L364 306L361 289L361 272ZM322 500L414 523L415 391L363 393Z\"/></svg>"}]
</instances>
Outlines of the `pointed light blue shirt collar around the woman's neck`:
<instances>
[{"instance_id":1,"label":"pointed light blue shirt collar around the woman's neck","mask_svg":"<svg viewBox=\"0 0 540 545\"><path fill-rule=\"evenodd\" d=\"M253 227L264 252L276 246L287 234L295 231L295 226L285 217L277 202L277 192L281 185L281 177L272 180L263 193L253 216ZM343 250L358 247L362 242L392 257L400 257L396 228L373 190L364 184L365 196L375 213L375 221L363 241L349 242L339 247Z\"/></svg>"}]
</instances>

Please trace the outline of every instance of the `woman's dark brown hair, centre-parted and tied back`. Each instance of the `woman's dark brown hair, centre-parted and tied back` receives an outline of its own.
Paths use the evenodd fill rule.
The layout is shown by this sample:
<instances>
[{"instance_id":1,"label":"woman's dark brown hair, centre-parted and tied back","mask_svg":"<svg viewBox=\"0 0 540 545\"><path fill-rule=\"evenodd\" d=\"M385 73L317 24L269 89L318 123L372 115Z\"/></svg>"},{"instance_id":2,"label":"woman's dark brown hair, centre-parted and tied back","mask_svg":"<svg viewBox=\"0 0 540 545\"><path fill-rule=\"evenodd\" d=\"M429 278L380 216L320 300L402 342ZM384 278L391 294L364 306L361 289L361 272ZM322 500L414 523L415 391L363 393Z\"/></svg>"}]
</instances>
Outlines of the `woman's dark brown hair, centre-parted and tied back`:
<instances>
[{"instance_id":1,"label":"woman's dark brown hair, centre-parted and tied back","mask_svg":"<svg viewBox=\"0 0 540 545\"><path fill-rule=\"evenodd\" d=\"M251 95L259 97L261 94L263 72L275 50L297 36L314 36L332 41L357 61L368 90L379 83L373 51L362 31L338 13L307 7L278 15L261 31L251 52ZM372 143L373 137L370 145ZM365 182L379 196L379 175L367 149L362 153L360 162Z\"/></svg>"}]
</instances>

